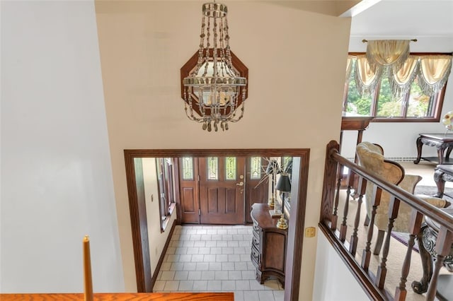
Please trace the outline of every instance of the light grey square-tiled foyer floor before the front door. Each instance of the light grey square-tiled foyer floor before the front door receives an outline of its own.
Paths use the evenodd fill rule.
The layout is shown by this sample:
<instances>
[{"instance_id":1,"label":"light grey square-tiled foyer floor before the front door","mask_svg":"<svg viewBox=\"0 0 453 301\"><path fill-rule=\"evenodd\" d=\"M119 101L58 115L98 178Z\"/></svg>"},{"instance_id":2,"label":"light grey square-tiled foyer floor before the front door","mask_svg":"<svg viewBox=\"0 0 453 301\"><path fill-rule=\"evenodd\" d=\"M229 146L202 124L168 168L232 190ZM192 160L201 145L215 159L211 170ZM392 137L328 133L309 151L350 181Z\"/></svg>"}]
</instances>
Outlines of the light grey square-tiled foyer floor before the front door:
<instances>
[{"instance_id":1,"label":"light grey square-tiled foyer floor before the front door","mask_svg":"<svg viewBox=\"0 0 453 301\"><path fill-rule=\"evenodd\" d=\"M155 292L234 292L235 301L280 301L275 279L260 285L248 225L177 225L154 285Z\"/></svg>"}]
</instances>

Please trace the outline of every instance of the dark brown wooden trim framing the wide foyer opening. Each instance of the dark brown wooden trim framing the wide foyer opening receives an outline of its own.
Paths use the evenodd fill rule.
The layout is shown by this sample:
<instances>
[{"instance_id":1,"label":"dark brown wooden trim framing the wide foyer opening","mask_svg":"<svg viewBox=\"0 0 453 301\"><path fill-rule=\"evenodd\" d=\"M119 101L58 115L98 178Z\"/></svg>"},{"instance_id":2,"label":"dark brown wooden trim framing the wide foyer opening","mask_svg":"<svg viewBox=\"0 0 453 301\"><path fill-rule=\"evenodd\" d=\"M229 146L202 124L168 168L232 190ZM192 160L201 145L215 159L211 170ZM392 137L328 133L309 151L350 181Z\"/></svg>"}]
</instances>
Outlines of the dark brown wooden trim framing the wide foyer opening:
<instances>
[{"instance_id":1,"label":"dark brown wooden trim framing the wide foyer opening","mask_svg":"<svg viewBox=\"0 0 453 301\"><path fill-rule=\"evenodd\" d=\"M292 267L289 277L285 281L285 300L297 301L299 299L300 271L302 264L302 249L304 242L304 220L306 207L306 184L309 175L309 148L280 148L280 149L166 149L166 150L125 150L125 167L127 180L127 193L129 196L130 220L132 228L132 244L134 247L135 275L137 278L137 292L151 293L149 287L151 279L151 264L149 254L144 254L149 250L149 240L147 235L147 216L144 206L137 199L137 189L135 186L134 158L179 158L179 157L209 157L209 156L262 156L278 157L290 155L300 158L299 172L299 195L297 197L296 211L291 210L291 217L288 231L288 244L294 246L287 252L287 260L291 260ZM294 216L295 215L295 216ZM144 227L144 228L143 228ZM295 247L297 246L297 247ZM292 252L289 252L292 251Z\"/></svg>"}]
</instances>

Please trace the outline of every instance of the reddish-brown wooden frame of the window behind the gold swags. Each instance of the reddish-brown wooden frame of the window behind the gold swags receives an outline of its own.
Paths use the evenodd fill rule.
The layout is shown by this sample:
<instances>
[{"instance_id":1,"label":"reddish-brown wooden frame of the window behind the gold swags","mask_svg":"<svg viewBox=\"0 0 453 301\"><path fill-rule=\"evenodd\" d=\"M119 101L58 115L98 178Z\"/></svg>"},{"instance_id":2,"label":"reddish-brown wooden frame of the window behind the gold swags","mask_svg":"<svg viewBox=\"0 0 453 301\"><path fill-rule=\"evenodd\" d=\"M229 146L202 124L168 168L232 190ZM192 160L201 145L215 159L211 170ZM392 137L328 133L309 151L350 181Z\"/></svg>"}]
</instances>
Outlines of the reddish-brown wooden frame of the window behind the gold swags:
<instances>
[{"instance_id":1,"label":"reddish-brown wooden frame of the window behind the gold swags","mask_svg":"<svg viewBox=\"0 0 453 301\"><path fill-rule=\"evenodd\" d=\"M365 52L348 52L350 56L357 56L357 55L364 55ZM439 52L411 52L411 55L415 56L423 56L423 55L452 55L451 53L439 53ZM381 83L379 83L371 94L372 102L370 104L369 115L374 117L371 122L440 122L440 118L442 117L442 107L444 105L445 99L445 90L447 88L447 82L442 87L439 93L437 93L437 100L436 105L434 107L434 116L432 117L377 117L377 107L379 102L379 91L381 90ZM348 107L348 89L349 88L349 78L345 79L345 86L343 90L343 112L346 112L346 108ZM410 96L409 93L405 95L406 105L403 107L403 113L407 114L408 110L408 98Z\"/></svg>"}]
</instances>

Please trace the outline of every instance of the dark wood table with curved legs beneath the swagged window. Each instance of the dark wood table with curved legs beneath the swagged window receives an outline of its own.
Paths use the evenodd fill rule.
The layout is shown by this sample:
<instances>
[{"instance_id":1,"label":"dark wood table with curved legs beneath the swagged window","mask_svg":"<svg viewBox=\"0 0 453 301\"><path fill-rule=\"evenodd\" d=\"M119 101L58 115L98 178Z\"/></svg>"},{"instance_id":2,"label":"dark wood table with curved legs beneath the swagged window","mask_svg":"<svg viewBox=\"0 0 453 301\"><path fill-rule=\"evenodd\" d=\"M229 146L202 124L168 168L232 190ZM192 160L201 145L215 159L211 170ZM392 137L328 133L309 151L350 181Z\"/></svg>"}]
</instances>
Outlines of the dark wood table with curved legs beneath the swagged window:
<instances>
[{"instance_id":1,"label":"dark wood table with curved legs beneath the swagged window","mask_svg":"<svg viewBox=\"0 0 453 301\"><path fill-rule=\"evenodd\" d=\"M418 134L417 138L417 159L413 163L418 164L420 159L427 160L437 164L453 164L449 155L453 149L453 134ZM422 157L422 147L435 146L437 148L437 157ZM444 155L445 154L445 155Z\"/></svg>"}]
</instances>

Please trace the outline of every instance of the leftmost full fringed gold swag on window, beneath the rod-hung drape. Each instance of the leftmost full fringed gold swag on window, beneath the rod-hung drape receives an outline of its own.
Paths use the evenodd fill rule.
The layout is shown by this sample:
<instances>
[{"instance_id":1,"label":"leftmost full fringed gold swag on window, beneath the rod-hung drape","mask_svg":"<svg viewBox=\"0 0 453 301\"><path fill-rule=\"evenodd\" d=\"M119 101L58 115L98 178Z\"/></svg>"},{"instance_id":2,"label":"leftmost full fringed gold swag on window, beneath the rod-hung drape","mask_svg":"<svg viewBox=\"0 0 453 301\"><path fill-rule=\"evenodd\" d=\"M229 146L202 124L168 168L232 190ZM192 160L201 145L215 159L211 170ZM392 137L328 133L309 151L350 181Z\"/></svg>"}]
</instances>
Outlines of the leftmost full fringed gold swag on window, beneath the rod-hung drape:
<instances>
[{"instance_id":1,"label":"leftmost full fringed gold swag on window, beneath the rod-hung drape","mask_svg":"<svg viewBox=\"0 0 453 301\"><path fill-rule=\"evenodd\" d=\"M381 81L382 67L373 70L365 55L357 55L355 62L355 84L360 95L369 95Z\"/></svg>"}]
</instances>

